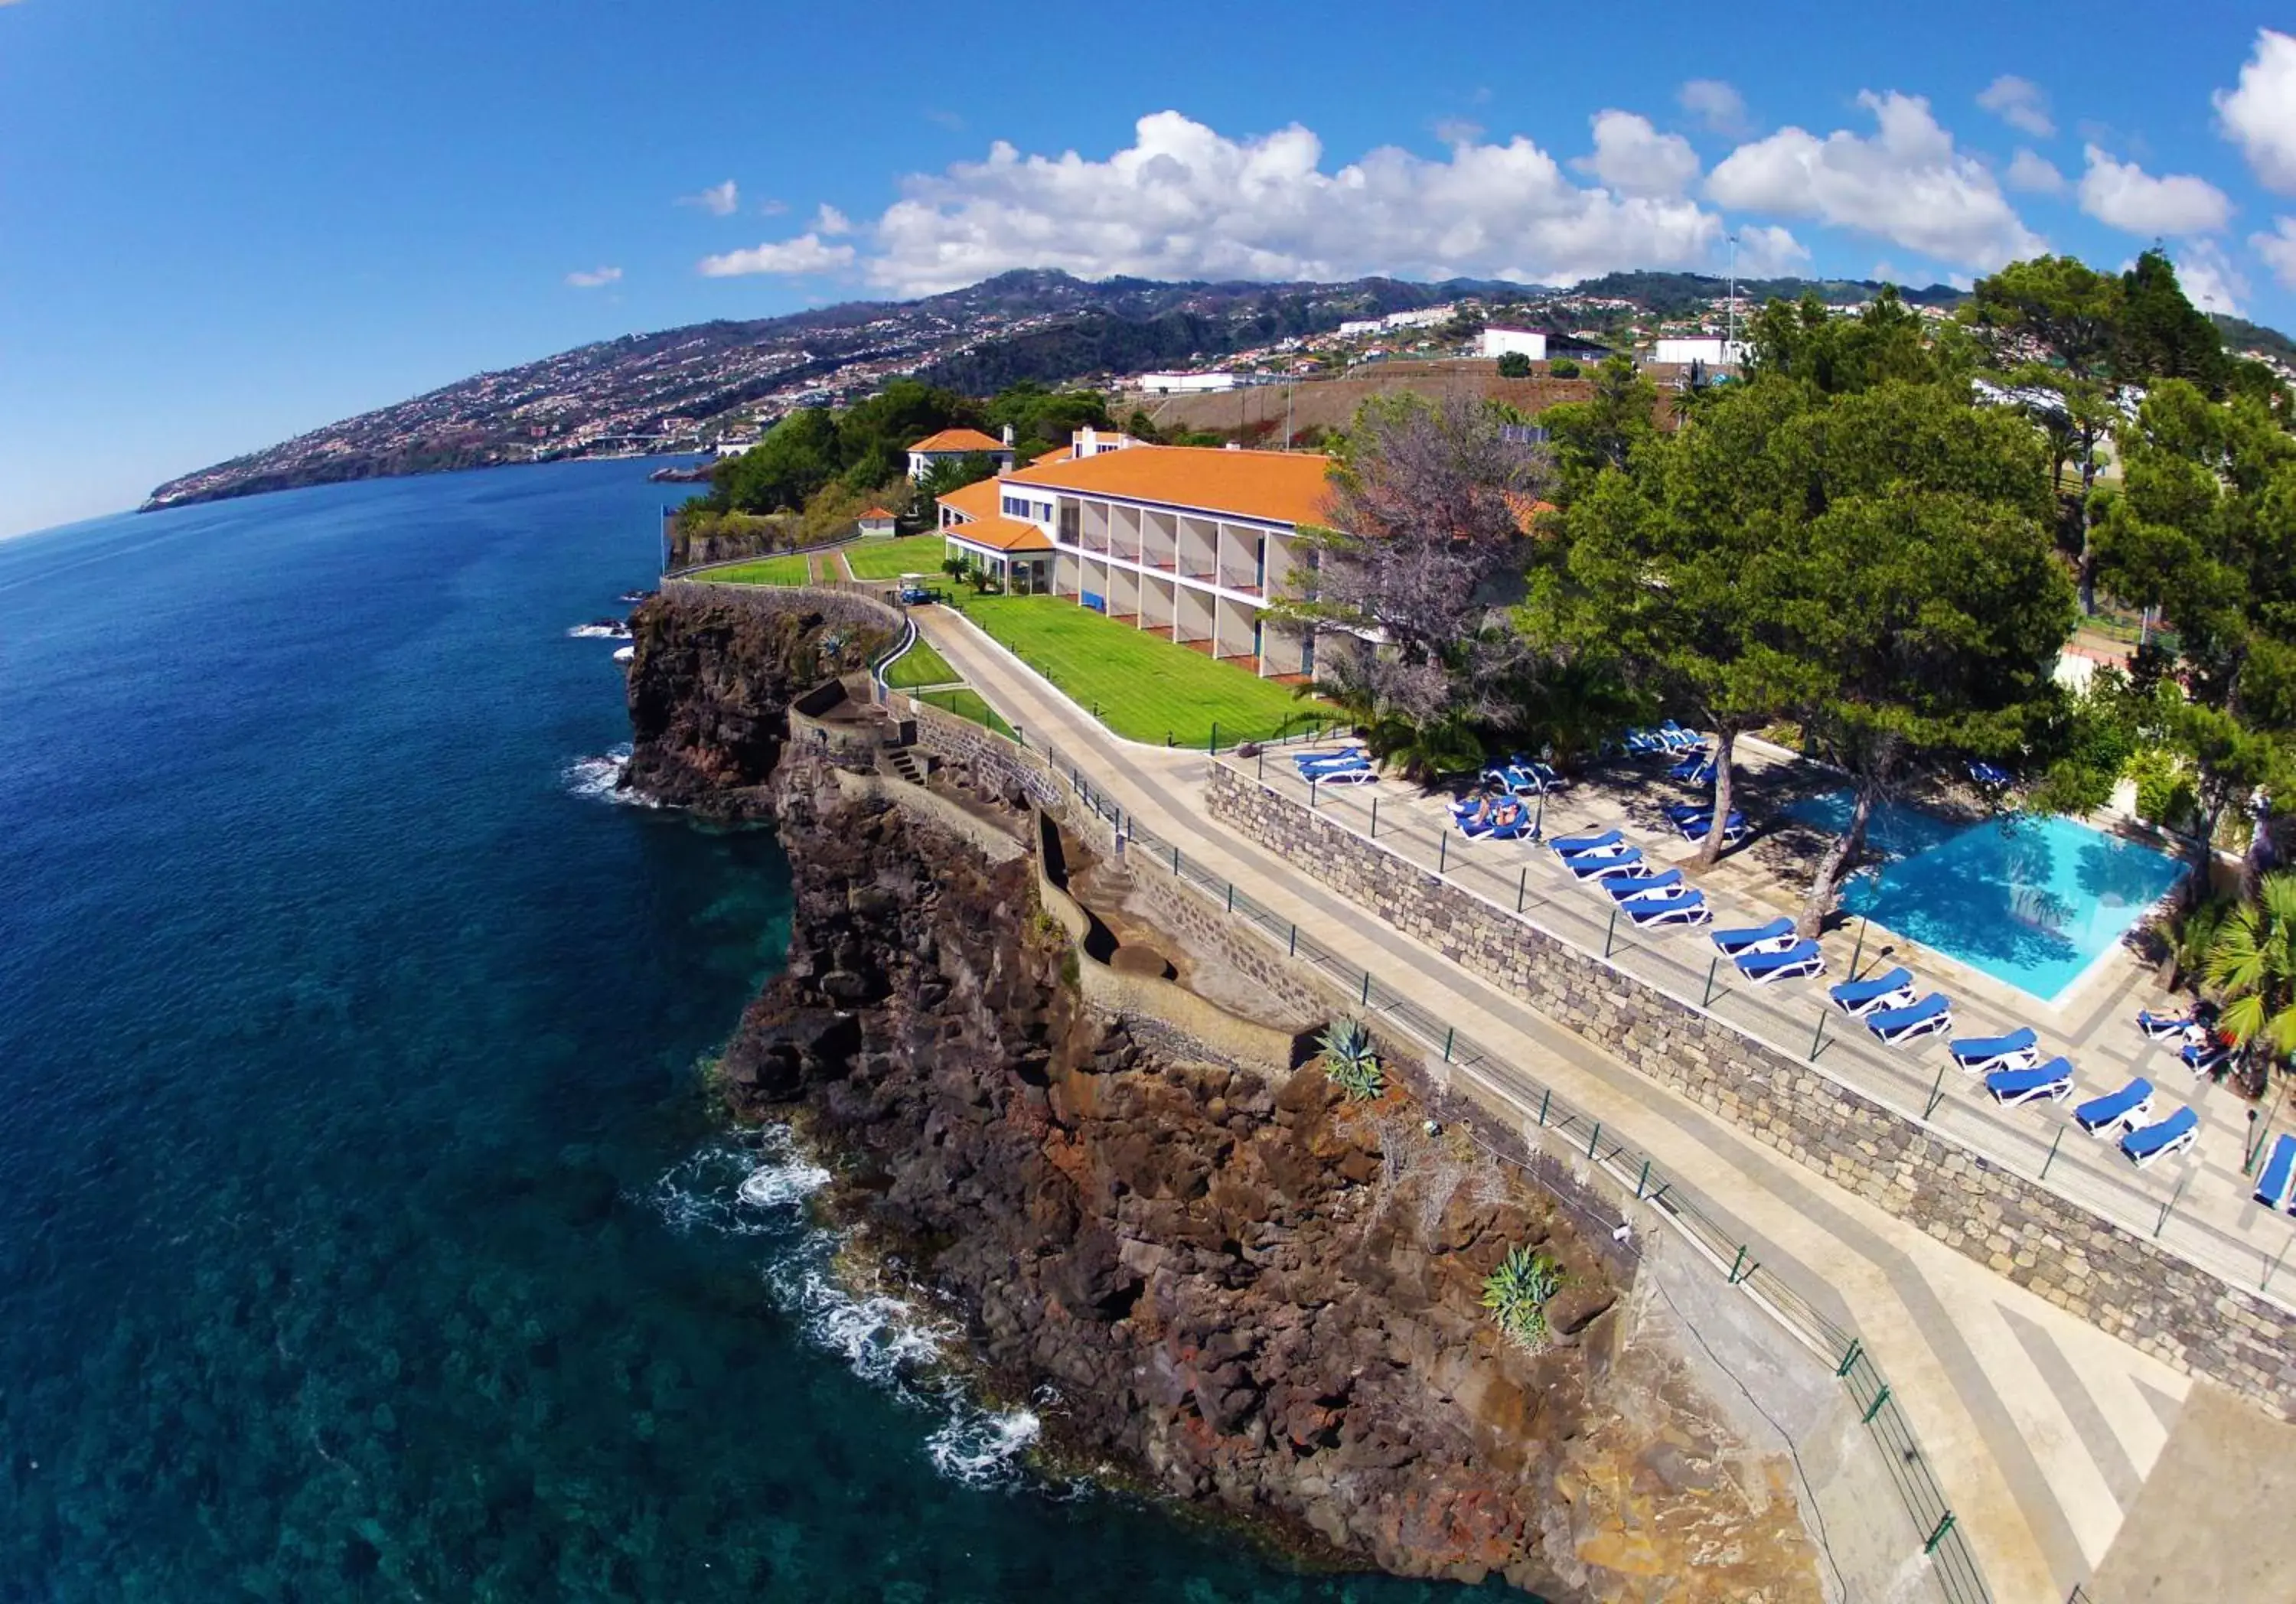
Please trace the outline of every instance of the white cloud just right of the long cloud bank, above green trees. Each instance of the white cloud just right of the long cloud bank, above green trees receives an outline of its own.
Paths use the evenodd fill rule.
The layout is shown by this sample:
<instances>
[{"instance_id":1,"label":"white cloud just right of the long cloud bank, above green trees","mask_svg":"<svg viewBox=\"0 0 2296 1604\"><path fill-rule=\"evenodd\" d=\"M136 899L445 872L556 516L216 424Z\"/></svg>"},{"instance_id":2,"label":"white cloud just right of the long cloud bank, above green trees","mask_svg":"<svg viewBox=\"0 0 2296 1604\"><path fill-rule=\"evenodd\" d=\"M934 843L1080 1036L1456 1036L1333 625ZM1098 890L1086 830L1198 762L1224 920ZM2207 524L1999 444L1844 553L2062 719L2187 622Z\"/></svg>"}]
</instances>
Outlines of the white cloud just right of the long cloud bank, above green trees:
<instances>
[{"instance_id":1,"label":"white cloud just right of the long cloud bank, above green trees","mask_svg":"<svg viewBox=\"0 0 2296 1604\"><path fill-rule=\"evenodd\" d=\"M1706 195L1733 211L1821 218L1958 266L1995 268L2046 250L1984 163L1954 149L1929 101L1867 89L1857 103L1874 112L1871 138L1779 129L1724 156Z\"/></svg>"}]
</instances>

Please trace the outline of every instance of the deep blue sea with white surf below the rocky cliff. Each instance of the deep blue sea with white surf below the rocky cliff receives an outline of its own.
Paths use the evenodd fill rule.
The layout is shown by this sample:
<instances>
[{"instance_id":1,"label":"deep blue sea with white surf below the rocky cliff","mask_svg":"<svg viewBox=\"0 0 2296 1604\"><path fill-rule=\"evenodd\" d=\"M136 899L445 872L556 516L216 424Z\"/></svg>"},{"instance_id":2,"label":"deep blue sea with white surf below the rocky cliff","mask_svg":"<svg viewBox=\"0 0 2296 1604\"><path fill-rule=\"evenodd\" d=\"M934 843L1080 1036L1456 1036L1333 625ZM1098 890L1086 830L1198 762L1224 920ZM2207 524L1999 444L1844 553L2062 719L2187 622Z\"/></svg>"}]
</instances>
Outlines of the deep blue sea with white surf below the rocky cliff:
<instances>
[{"instance_id":1,"label":"deep blue sea with white surf below the rocky cliff","mask_svg":"<svg viewBox=\"0 0 2296 1604\"><path fill-rule=\"evenodd\" d=\"M0 1599L1456 1597L1035 1487L716 1127L788 874L602 796L643 475L0 544Z\"/></svg>"}]
</instances>

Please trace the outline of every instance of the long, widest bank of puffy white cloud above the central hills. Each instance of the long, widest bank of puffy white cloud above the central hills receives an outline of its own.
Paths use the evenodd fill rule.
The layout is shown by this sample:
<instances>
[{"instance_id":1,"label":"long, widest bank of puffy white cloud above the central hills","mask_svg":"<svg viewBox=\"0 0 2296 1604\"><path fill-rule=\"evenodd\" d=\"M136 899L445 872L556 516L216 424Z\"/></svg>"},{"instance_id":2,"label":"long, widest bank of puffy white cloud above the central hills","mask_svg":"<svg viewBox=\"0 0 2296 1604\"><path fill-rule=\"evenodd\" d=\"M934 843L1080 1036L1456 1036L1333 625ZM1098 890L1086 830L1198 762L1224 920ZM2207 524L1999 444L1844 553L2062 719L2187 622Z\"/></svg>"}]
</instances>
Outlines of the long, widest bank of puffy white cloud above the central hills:
<instances>
[{"instance_id":1,"label":"long, widest bank of puffy white cloud above the central hills","mask_svg":"<svg viewBox=\"0 0 2296 1604\"><path fill-rule=\"evenodd\" d=\"M1460 273L1577 282L1626 266L1711 266L1722 218L1681 197L1573 184L1529 140L1428 161L1382 147L1325 172L1297 124L1228 138L1155 112L1107 161L1077 151L987 161L905 181L872 229L872 282L900 294L1015 266L1079 278L1318 278Z\"/></svg>"}]
</instances>

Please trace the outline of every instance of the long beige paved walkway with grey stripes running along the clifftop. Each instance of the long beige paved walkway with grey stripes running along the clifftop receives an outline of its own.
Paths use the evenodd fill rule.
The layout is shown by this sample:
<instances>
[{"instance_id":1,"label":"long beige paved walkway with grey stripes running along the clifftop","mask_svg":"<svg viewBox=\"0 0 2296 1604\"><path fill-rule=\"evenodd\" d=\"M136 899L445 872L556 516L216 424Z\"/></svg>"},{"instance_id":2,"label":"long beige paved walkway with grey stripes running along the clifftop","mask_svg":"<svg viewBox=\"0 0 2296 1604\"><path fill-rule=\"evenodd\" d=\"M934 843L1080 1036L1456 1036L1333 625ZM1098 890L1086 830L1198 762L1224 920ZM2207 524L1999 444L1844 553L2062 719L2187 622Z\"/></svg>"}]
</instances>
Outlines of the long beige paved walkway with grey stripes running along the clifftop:
<instances>
[{"instance_id":1,"label":"long beige paved walkway with grey stripes running along the clifftop","mask_svg":"<svg viewBox=\"0 0 2296 1604\"><path fill-rule=\"evenodd\" d=\"M1205 757L1116 741L944 610L921 610L918 624L1031 741L1056 741L1141 824L1348 961L1410 982L1417 1000L1499 1060L1536 1065L1740 1225L1795 1292L1846 1315L1896 1391L1995 1597L2064 1599L2103 1560L2193 1391L2188 1377L1773 1154L1231 835L1203 810Z\"/></svg>"}]
</instances>

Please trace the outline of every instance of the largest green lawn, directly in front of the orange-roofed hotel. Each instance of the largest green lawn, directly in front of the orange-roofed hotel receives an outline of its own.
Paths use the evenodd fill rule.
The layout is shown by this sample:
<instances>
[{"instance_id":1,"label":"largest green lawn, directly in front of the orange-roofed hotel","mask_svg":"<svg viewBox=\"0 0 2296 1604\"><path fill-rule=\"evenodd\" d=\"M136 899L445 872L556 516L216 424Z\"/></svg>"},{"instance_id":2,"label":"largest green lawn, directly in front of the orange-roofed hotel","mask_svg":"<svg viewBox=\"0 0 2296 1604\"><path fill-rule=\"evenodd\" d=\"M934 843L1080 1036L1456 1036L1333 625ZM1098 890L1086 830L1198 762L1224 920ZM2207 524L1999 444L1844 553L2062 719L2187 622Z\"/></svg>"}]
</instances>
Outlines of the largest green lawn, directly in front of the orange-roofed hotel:
<instances>
[{"instance_id":1,"label":"largest green lawn, directly in front of the orange-roofed hotel","mask_svg":"<svg viewBox=\"0 0 2296 1604\"><path fill-rule=\"evenodd\" d=\"M1313 721L1318 702L1171 640L1111 624L1058 597L955 597L974 620L1072 702L1132 741L1221 746Z\"/></svg>"}]
</instances>

